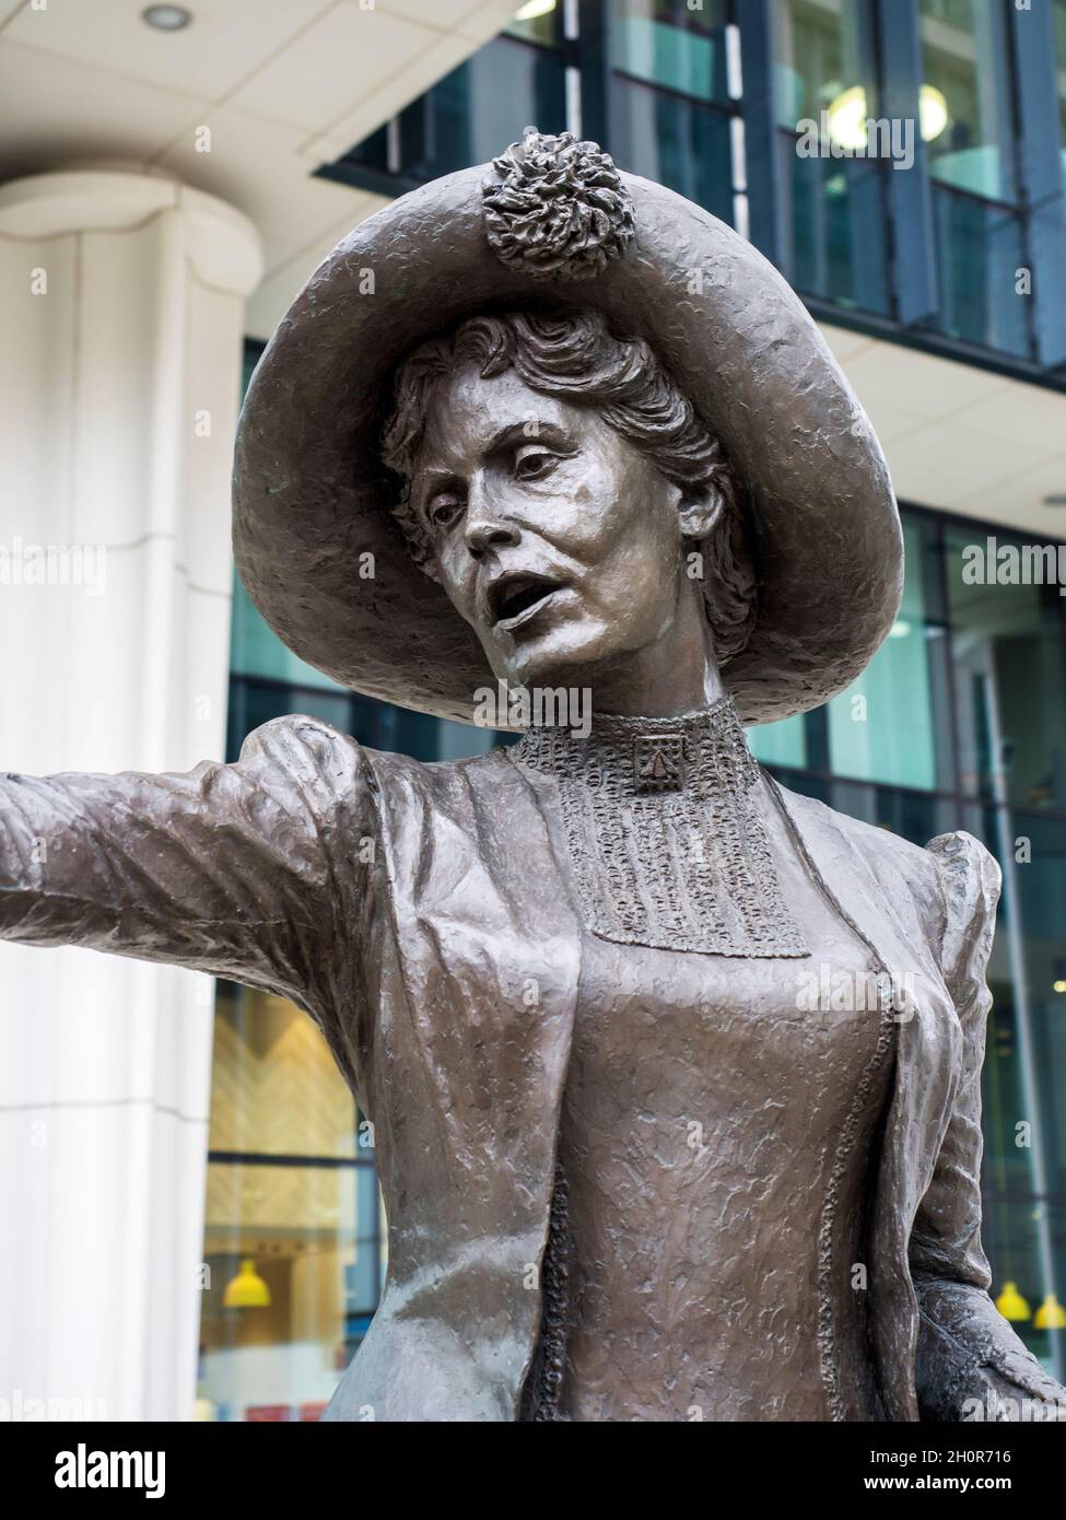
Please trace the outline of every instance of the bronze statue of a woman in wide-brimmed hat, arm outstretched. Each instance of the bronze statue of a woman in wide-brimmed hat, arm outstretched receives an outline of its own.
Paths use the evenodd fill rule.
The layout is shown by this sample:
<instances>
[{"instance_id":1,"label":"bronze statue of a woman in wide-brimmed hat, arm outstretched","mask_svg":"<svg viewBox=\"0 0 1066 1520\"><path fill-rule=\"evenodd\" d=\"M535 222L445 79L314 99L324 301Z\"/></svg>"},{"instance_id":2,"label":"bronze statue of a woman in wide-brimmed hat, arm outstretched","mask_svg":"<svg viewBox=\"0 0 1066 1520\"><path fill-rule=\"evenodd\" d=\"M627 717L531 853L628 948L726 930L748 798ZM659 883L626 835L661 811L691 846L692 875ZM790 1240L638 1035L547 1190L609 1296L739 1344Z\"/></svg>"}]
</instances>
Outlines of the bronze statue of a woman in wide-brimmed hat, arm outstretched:
<instances>
[{"instance_id":1,"label":"bronze statue of a woman in wide-brimmed hat, arm outstretched","mask_svg":"<svg viewBox=\"0 0 1066 1520\"><path fill-rule=\"evenodd\" d=\"M979 1243L998 868L745 745L859 673L902 584L877 442L769 264L531 129L300 295L234 541L336 679L532 714L461 763L283 717L236 765L2 784L6 938L289 997L373 1120L388 1278L325 1418L1066 1397Z\"/></svg>"}]
</instances>

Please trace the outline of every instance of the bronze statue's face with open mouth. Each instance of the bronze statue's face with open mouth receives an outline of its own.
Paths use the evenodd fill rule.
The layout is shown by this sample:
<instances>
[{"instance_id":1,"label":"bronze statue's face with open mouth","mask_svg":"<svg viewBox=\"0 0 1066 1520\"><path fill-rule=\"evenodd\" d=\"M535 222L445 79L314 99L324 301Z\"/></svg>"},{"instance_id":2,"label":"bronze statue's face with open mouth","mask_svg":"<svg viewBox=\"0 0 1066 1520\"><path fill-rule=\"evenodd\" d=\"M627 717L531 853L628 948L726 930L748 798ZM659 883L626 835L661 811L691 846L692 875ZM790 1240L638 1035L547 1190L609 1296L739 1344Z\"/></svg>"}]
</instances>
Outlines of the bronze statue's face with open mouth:
<instances>
[{"instance_id":1,"label":"bronze statue's face with open mouth","mask_svg":"<svg viewBox=\"0 0 1066 1520\"><path fill-rule=\"evenodd\" d=\"M411 499L432 573L512 686L610 669L677 616L680 488L596 410L514 369L439 386Z\"/></svg>"}]
</instances>

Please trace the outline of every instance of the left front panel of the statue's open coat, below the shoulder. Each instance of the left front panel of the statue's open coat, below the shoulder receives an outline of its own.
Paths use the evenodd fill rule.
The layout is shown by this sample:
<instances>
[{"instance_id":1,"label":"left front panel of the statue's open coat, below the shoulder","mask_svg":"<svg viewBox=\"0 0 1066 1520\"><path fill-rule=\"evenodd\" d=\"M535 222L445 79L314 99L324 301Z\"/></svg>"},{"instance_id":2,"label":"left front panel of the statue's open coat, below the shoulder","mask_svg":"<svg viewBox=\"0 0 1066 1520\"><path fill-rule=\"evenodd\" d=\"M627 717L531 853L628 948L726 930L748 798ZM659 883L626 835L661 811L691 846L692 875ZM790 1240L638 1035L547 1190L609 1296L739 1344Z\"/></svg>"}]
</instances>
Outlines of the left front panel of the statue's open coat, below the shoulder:
<instances>
[{"instance_id":1,"label":"left front panel of the statue's open coat, below the shoulder","mask_svg":"<svg viewBox=\"0 0 1066 1520\"><path fill-rule=\"evenodd\" d=\"M389 1275L330 1418L509 1421L540 1332L579 926L508 758L373 765L388 894L365 1066Z\"/></svg>"}]
</instances>

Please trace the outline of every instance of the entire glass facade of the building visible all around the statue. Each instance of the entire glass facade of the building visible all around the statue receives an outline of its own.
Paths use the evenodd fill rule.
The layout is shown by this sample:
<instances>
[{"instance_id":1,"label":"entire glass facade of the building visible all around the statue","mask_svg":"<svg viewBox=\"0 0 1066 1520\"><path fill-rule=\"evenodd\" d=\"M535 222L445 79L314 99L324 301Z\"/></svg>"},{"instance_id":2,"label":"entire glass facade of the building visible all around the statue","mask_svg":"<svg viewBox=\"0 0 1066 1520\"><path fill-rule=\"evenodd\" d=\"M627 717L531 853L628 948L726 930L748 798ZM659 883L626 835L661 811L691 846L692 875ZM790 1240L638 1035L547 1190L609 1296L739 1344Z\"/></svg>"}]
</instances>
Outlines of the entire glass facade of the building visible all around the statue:
<instances>
[{"instance_id":1,"label":"entire glass facade of the building visible all around the statue","mask_svg":"<svg viewBox=\"0 0 1066 1520\"><path fill-rule=\"evenodd\" d=\"M400 193L490 158L529 122L569 126L742 231L750 219L818 315L896 324L926 347L981 350L1066 385L1066 351L1017 292L1017 271L1039 280L1040 266L1025 137L1034 102L1020 100L1017 73L1033 36L1013 12L1008 0L558 5L516 21L325 172ZM1063 185L1064 0L1034 24L1045 23L1043 88L1063 135L1040 152ZM900 102L920 126L911 178L833 152L856 141L856 122ZM797 152L804 120L820 144L809 155ZM1057 196L1043 196L1042 217L1061 219ZM1058 289L1061 304L1061 271ZM967 550L990 534L1020 544L1002 526L920 506L903 524L903 605L876 658L826 707L753 730L751 748L786 786L841 812L920 845L966 828L1002 865L984 1240L993 1297L1061 1377L1066 1330L1049 1292L1066 1281L1066 599L1054 585L970 584ZM500 737L338 689L284 651L240 587L231 666L231 758L287 711L426 760ZM373 1315L383 1240L373 1135L318 1031L224 983L201 1330L201 1397L217 1418L316 1417Z\"/></svg>"}]
</instances>

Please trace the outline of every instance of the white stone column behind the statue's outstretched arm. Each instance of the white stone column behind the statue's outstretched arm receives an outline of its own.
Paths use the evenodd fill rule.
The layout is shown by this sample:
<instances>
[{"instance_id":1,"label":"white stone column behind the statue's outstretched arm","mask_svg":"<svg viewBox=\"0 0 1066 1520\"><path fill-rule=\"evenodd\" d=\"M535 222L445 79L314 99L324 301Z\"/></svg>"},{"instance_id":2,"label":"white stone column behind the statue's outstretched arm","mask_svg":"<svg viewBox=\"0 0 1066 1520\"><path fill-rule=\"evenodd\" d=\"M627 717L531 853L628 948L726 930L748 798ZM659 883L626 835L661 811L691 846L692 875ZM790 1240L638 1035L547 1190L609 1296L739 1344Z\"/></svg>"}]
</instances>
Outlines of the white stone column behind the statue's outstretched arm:
<instances>
[{"instance_id":1,"label":"white stone column behind the statue's outstretched arm","mask_svg":"<svg viewBox=\"0 0 1066 1520\"><path fill-rule=\"evenodd\" d=\"M254 226L169 178L0 187L3 769L222 757L230 467L260 275ZM30 1400L53 1417L192 1414L211 1020L207 977L0 945L0 1400L15 1417Z\"/></svg>"}]
</instances>

